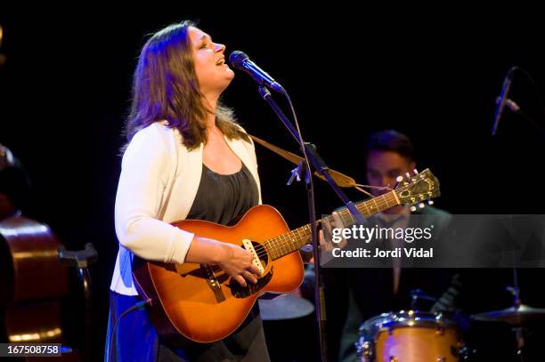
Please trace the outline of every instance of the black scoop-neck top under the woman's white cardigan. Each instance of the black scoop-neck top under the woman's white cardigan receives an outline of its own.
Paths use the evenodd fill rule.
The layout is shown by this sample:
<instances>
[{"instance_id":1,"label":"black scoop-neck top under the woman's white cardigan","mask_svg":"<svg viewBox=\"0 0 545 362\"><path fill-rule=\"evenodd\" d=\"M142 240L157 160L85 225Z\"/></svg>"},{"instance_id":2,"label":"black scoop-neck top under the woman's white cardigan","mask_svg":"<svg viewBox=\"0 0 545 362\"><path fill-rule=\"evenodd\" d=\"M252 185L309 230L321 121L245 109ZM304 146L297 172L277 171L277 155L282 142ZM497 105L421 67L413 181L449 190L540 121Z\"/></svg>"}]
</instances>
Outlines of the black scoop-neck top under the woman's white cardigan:
<instances>
[{"instance_id":1,"label":"black scoop-neck top under the woman's white cardigan","mask_svg":"<svg viewBox=\"0 0 545 362\"><path fill-rule=\"evenodd\" d=\"M232 174L215 173L203 164L199 189L187 219L230 225L258 201L256 181L244 163L239 172Z\"/></svg>"}]
</instances>

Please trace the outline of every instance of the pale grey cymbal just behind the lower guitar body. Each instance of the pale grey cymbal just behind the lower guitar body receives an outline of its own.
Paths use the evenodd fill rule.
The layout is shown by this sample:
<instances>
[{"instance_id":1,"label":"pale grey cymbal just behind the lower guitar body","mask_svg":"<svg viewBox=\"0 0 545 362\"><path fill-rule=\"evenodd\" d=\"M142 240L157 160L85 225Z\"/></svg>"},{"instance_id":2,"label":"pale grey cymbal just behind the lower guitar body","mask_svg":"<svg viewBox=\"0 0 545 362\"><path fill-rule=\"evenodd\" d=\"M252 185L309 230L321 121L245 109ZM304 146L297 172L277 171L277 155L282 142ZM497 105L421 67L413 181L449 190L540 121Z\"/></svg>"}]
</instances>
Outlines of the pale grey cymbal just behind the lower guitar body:
<instances>
[{"instance_id":1,"label":"pale grey cymbal just behind the lower guitar body","mask_svg":"<svg viewBox=\"0 0 545 362\"><path fill-rule=\"evenodd\" d=\"M283 294L274 299L258 299L263 320L302 318L314 310L313 303L292 294Z\"/></svg>"}]
</instances>

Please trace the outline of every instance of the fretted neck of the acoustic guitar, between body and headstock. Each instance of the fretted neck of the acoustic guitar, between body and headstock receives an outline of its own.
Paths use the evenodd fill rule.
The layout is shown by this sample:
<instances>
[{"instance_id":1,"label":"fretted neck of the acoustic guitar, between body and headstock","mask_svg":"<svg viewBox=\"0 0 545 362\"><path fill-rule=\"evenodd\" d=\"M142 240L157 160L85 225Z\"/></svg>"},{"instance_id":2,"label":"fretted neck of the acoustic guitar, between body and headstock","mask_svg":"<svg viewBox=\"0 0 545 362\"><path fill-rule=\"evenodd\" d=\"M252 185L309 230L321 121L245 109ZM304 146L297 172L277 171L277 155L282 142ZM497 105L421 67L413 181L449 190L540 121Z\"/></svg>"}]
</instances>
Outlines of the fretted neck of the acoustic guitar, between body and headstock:
<instances>
[{"instance_id":1,"label":"fretted neck of the acoustic guitar, between body and headstock","mask_svg":"<svg viewBox=\"0 0 545 362\"><path fill-rule=\"evenodd\" d=\"M362 213L364 218L368 218L375 213L380 213L395 205L400 205L399 199L396 196L395 191L390 191L379 197L372 197L369 200L362 201L355 206L356 209ZM352 214L346 208L339 211L338 215L345 227L354 225L355 221ZM330 223L333 221L333 217L328 216L320 221ZM286 234L265 241L264 246L271 255L271 258L275 260L286 254L295 252L304 245L310 244L311 237L312 230L310 224L306 224L305 226L291 230Z\"/></svg>"}]
</instances>

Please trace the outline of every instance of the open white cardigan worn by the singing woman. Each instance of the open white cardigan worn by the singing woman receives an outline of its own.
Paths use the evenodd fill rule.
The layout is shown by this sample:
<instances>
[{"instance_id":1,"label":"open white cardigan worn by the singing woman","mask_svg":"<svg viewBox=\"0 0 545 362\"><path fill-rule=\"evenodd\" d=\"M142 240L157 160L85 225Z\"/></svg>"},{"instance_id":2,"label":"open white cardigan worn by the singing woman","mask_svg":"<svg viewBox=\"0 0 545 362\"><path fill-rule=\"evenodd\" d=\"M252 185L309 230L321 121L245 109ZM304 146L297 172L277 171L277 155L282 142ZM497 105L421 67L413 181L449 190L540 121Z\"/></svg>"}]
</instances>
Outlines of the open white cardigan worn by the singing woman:
<instances>
[{"instance_id":1,"label":"open white cardigan worn by the singing woman","mask_svg":"<svg viewBox=\"0 0 545 362\"><path fill-rule=\"evenodd\" d=\"M170 222L185 219L199 189L203 145L188 151L182 136L166 122L134 134L121 163L115 224L118 258L110 289L137 295L132 276L133 253L146 260L183 263L193 234ZM228 140L227 144L248 167L261 188L253 143Z\"/></svg>"}]
</instances>

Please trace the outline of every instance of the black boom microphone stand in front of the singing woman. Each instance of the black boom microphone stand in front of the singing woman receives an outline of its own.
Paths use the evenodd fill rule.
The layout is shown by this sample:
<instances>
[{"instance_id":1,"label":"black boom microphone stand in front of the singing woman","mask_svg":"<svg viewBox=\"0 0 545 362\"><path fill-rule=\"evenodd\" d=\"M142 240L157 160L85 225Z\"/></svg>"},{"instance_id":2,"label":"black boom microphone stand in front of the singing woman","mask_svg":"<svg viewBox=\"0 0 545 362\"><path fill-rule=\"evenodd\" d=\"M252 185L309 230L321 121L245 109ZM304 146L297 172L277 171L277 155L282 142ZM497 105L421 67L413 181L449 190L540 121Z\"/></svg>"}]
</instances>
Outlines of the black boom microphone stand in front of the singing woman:
<instances>
[{"instance_id":1,"label":"black boom microphone stand in front of the singing woman","mask_svg":"<svg viewBox=\"0 0 545 362\"><path fill-rule=\"evenodd\" d=\"M312 168L320 173L323 177L325 177L326 181L328 181L329 186L331 186L331 189L335 191L335 193L338 195L338 197L343 201L343 203L346 205L346 208L348 211L352 214L354 221L357 223L364 223L364 219L361 213L358 212L356 209L354 203L346 197L345 193L338 187L337 183L333 181L331 176L329 175L329 167L324 163L323 159L321 159L320 155L318 155L318 152L316 152L316 147L309 142L302 142L302 137L300 138L300 134L297 133L296 128L291 124L288 117L284 115L280 107L276 104L275 101L273 101L273 97L271 96L271 93L267 88L265 88L263 85L259 85L258 87L259 94L264 99L264 101L271 106L274 113L280 118L282 124L286 126L289 133L296 139L297 144L299 145L301 151L304 155L306 155L305 161L303 162L304 169L305 169L305 186L306 186L306 196L308 199L308 212L310 215L310 224L311 224L311 232L312 232L312 243L313 243L313 257L314 257L314 274L315 274L315 284L314 284L314 302L316 304L316 322L318 324L318 339L320 344L320 355L321 355L321 361L326 362L327 361L327 347L326 347L326 313L325 313L325 298L323 294L323 284L321 281L321 266L320 266L320 252L319 252L319 241L318 241L318 234L317 234L317 225L316 225L316 209L314 205L314 189L313 189L313 178L312 178ZM288 98L289 95L285 94ZM307 162L310 162L311 165L308 165Z\"/></svg>"}]
</instances>

